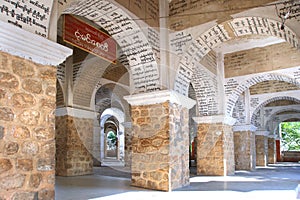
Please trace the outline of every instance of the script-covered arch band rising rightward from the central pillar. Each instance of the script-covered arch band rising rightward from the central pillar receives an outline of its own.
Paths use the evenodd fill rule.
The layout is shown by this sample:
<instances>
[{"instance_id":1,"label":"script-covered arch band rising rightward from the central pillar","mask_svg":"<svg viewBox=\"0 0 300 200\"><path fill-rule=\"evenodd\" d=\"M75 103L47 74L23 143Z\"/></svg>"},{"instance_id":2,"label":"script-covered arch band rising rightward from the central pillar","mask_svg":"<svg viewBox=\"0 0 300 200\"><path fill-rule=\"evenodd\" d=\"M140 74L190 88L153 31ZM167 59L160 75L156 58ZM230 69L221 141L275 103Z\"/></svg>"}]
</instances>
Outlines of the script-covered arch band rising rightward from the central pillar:
<instances>
[{"instance_id":1,"label":"script-covered arch band rising rightward from the central pillar","mask_svg":"<svg viewBox=\"0 0 300 200\"><path fill-rule=\"evenodd\" d=\"M286 42L291 44L291 46L298 48L299 41L296 34L288 27L281 30L280 26L281 22L273 19L262 17L242 17L211 27L206 32L195 38L188 48L186 48L187 50L182 55L177 68L174 90L187 96L188 86L194 76L193 74L195 73L195 69L205 68L201 66L199 62L206 54L208 54L209 51L226 41L246 35L273 36L284 39ZM206 84L205 80L199 81L202 82L199 85ZM210 88L214 88L214 85L210 85ZM195 90L201 90L201 88L195 88ZM218 104L217 100L213 103ZM205 106L206 102L200 102L198 104ZM232 115L232 109L233 108L230 108L229 113L227 114Z\"/></svg>"}]
</instances>

